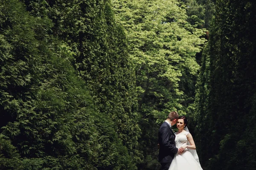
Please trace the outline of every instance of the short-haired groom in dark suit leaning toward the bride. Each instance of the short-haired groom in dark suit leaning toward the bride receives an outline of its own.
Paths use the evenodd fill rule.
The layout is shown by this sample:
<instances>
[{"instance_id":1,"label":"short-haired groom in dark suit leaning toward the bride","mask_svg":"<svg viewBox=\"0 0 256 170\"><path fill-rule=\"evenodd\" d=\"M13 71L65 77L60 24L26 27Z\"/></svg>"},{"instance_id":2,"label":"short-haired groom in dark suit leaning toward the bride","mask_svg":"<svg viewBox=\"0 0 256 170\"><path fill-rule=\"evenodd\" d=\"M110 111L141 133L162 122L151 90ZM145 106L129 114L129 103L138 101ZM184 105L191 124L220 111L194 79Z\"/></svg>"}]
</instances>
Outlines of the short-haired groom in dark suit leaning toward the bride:
<instances>
[{"instance_id":1,"label":"short-haired groom in dark suit leaning toward the bride","mask_svg":"<svg viewBox=\"0 0 256 170\"><path fill-rule=\"evenodd\" d=\"M161 164L161 170L168 170L172 159L178 153L178 148L175 147L175 134L171 127L176 124L179 115L172 111L169 113L167 119L158 130L158 142L160 145L158 161Z\"/></svg>"}]
</instances>

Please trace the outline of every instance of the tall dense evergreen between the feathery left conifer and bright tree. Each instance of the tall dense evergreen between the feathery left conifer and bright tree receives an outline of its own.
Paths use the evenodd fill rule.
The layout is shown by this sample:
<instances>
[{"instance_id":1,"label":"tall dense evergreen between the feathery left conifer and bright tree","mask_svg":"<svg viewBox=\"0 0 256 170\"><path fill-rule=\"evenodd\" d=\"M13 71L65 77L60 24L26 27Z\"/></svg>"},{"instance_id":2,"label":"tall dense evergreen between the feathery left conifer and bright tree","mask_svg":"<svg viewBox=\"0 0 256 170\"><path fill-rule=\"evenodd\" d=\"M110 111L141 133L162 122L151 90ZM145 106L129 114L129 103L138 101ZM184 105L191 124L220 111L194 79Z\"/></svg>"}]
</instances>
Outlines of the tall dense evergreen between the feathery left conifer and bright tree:
<instances>
[{"instance_id":1,"label":"tall dense evergreen between the feathery left conifer and bright tree","mask_svg":"<svg viewBox=\"0 0 256 170\"><path fill-rule=\"evenodd\" d=\"M76 53L73 66L86 82L99 111L115 123L115 130L134 161L140 128L137 125L135 75L128 58L122 27L115 23L106 1L26 1L35 16L47 14L55 23L53 35ZM38 7L39 6L39 7Z\"/></svg>"}]
</instances>

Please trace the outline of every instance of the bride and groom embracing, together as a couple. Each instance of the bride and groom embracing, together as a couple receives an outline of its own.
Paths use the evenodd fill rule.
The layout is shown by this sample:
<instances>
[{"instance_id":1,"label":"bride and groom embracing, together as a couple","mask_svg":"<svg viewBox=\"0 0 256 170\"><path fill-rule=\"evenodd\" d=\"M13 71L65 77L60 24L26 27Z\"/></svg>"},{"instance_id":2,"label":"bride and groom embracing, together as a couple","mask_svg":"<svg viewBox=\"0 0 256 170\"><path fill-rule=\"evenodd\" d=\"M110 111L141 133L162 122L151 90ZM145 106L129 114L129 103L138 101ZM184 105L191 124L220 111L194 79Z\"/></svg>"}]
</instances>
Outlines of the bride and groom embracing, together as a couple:
<instances>
[{"instance_id":1,"label":"bride and groom embracing, together as a couple","mask_svg":"<svg viewBox=\"0 0 256 170\"><path fill-rule=\"evenodd\" d=\"M171 127L176 123L178 131L174 133ZM161 125L158 131L161 170L202 170L187 124L185 116L179 117L172 111Z\"/></svg>"}]
</instances>

